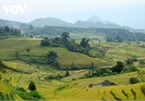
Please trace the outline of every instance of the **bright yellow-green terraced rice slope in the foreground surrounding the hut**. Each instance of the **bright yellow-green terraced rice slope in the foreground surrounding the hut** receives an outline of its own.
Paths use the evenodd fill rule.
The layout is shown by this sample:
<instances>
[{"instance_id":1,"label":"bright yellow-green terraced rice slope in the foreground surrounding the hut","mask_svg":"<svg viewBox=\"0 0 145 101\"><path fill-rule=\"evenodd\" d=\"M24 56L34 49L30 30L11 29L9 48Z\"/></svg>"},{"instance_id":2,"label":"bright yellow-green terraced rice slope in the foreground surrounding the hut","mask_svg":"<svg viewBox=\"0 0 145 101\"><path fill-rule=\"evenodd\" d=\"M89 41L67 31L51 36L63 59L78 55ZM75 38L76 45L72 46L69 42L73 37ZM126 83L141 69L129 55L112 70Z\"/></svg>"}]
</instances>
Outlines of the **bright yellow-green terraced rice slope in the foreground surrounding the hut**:
<instances>
[{"instance_id":1,"label":"bright yellow-green terraced rice slope in the foreground surrounding the hut","mask_svg":"<svg viewBox=\"0 0 145 101\"><path fill-rule=\"evenodd\" d=\"M11 62L5 62L5 63L12 64ZM25 66L27 66L27 64L23 64L23 66L21 66L21 68L23 68ZM15 66L13 68L15 68ZM33 67L30 67L30 68L33 68ZM78 71L78 72L72 71L72 74L73 73L79 74L82 71L83 70ZM80 80L76 80L76 81L72 81L72 82L62 82L62 81L60 82L60 81L56 81L56 80L47 82L47 81L39 79L37 73L33 73L31 75L23 74L22 80L19 80L21 75L22 74L15 73L15 72L8 72L8 71L6 73L6 76L11 78L11 79L9 79L10 84L12 84L13 86L16 86L16 84L20 84L20 87L24 87L26 90L27 90L29 81L31 79L33 79L34 82L36 83L38 92L41 95L43 95L45 97L45 99L47 99L47 100L50 100L50 99L51 100L102 100L102 99L115 100L115 98L110 93L111 91L116 94L117 98L120 98L122 100L133 100L134 95L130 91L131 89L133 89L137 93L137 95L136 95L137 100L145 99L140 90L140 86L145 83L129 85L129 82L128 82L129 78L133 77L133 76L136 77L135 72L107 76L107 77L80 79ZM40 77L41 76L43 76L43 74L40 74ZM116 83L118 86L87 88L88 85L91 83L97 84L106 79ZM69 86L65 86L64 89L56 91L56 89L59 88L60 85L66 85L66 84L68 84ZM122 93L122 90L125 90L125 92L129 95L128 98ZM15 97L15 99L19 100L20 98L17 96L17 97Z\"/></svg>"}]
</instances>

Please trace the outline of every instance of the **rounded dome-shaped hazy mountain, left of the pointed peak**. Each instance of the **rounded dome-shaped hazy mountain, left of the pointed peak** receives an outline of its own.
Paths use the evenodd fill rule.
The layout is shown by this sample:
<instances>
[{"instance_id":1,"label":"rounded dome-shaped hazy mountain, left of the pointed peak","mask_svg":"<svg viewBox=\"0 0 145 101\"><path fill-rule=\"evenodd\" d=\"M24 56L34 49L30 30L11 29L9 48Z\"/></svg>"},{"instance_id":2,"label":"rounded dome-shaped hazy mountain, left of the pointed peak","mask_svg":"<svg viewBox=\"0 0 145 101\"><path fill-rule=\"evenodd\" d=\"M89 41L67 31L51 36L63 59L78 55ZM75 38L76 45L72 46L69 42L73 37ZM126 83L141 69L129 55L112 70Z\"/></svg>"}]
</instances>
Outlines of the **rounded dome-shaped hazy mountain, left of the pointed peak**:
<instances>
[{"instance_id":1,"label":"rounded dome-shaped hazy mountain, left of the pointed peak","mask_svg":"<svg viewBox=\"0 0 145 101\"><path fill-rule=\"evenodd\" d=\"M38 18L36 20L31 21L29 24L32 24L33 26L39 26L39 27L44 27L44 26L63 26L63 27L71 27L72 24L65 22L63 20L57 19L57 18Z\"/></svg>"}]
</instances>

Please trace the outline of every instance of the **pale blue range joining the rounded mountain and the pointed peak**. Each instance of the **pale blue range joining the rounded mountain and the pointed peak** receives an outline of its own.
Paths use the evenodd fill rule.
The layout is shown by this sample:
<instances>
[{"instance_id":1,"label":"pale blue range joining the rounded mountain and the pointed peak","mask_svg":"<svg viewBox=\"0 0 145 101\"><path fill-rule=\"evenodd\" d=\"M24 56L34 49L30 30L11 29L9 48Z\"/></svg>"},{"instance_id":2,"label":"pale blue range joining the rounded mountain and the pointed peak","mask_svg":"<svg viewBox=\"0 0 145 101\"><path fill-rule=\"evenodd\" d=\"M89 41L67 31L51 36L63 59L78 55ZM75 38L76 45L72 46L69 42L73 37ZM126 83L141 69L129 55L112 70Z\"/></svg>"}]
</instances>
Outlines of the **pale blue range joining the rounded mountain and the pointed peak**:
<instances>
[{"instance_id":1,"label":"pale blue range joining the rounded mountain and the pointed peak","mask_svg":"<svg viewBox=\"0 0 145 101\"><path fill-rule=\"evenodd\" d=\"M96 15L88 18L85 21L78 20L74 24L65 22L58 18L38 18L36 20L31 21L29 24L37 27L44 27L44 26L61 26L61 27L81 27L81 28L89 28L89 27L96 27L96 28L125 28L131 29L126 26L121 26L116 23L111 23L110 21L102 21Z\"/></svg>"}]
</instances>

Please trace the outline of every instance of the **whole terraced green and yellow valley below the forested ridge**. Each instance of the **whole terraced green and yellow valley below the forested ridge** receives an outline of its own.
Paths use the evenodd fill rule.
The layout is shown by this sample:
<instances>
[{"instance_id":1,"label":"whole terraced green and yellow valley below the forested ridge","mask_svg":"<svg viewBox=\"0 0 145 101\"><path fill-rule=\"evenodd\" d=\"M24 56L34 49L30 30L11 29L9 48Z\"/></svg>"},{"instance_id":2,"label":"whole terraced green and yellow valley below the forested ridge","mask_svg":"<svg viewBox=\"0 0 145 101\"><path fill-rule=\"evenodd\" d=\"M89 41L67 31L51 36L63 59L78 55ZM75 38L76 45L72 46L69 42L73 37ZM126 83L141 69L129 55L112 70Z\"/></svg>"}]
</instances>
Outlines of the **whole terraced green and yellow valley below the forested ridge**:
<instances>
[{"instance_id":1,"label":"whole terraced green and yellow valley below the forested ridge","mask_svg":"<svg viewBox=\"0 0 145 101\"><path fill-rule=\"evenodd\" d=\"M0 87L4 87L5 99L14 100L143 100L145 99L141 87L145 85L145 69L139 65L140 60L145 60L144 42L105 42L91 41L90 47L100 45L106 47L105 56L90 57L86 54L73 52L66 47L41 46L43 38L11 37L0 40L0 60L9 67L5 73L1 73ZM79 41L78 41L79 43ZM30 48L28 52L27 49ZM18 58L16 53L19 53ZM57 61L60 69L51 64L40 61L43 60L49 51L57 53ZM92 51L91 54L93 54ZM108 76L85 77L91 71L90 66L112 68L116 61L125 63L127 58L136 57L137 61L133 65L138 71L142 71L140 77L138 71L122 72ZM35 60L35 61L34 61ZM72 68L72 65L77 68ZM126 65L127 67L127 65ZM66 75L69 72L69 76ZM53 78L50 78L53 77ZM130 84L131 77L137 77L140 83ZM48 79L49 78L49 79ZM88 88L90 84L98 84L104 80L110 80L116 86L102 86ZM34 81L37 92L42 97L32 97L28 85ZM9 89L9 90L6 90ZM20 90L21 89L21 90ZM24 90L22 90L24 89ZM7 92L5 92L7 91ZM33 94L32 94L33 95Z\"/></svg>"}]
</instances>

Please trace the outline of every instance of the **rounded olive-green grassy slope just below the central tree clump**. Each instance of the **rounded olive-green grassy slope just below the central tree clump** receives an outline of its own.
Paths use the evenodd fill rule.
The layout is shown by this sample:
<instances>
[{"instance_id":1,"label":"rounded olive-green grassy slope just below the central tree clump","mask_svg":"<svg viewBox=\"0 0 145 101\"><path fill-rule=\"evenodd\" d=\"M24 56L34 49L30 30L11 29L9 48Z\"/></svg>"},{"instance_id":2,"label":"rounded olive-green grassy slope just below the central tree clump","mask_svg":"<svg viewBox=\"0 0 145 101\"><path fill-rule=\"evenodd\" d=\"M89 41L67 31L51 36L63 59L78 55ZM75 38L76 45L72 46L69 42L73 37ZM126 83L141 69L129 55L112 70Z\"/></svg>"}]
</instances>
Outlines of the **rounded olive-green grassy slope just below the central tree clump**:
<instances>
[{"instance_id":1,"label":"rounded olive-green grassy slope just below the central tree clump","mask_svg":"<svg viewBox=\"0 0 145 101\"><path fill-rule=\"evenodd\" d=\"M85 66L85 65L91 65L92 62L94 62L95 65L101 66L101 65L111 65L110 63L106 63L104 60L98 59L98 58L90 58L87 55L80 54L77 52L70 52L66 48L62 47L41 47L38 46L34 49L32 49L29 53L29 55L35 55L35 56L44 56L49 51L55 51L58 54L58 61L60 62L60 65L62 66L70 66L72 62L74 64ZM21 52L22 55L27 55L27 52Z\"/></svg>"}]
</instances>

